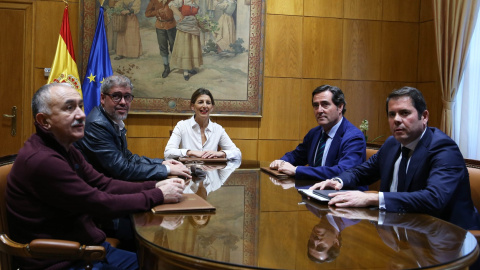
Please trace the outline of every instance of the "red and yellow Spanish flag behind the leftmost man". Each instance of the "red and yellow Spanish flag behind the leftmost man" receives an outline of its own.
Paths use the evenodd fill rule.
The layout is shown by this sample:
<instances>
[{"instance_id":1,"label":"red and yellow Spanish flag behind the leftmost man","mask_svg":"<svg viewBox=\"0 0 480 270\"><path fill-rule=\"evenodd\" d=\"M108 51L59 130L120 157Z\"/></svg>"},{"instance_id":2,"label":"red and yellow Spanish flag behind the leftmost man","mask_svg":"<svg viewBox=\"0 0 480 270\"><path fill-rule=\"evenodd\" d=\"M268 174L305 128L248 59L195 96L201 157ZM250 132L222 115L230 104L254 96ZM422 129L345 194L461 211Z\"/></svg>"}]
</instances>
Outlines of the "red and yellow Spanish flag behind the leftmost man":
<instances>
[{"instance_id":1,"label":"red and yellow Spanish flag behind the leftmost man","mask_svg":"<svg viewBox=\"0 0 480 270\"><path fill-rule=\"evenodd\" d=\"M70 33L67 5L63 12L62 27L60 28L60 36L58 37L57 43L57 52L55 53L55 59L53 59L48 83L69 83L80 93L80 95L82 95L82 87L80 85L79 77L77 63L75 62L75 52L73 51L73 41Z\"/></svg>"}]
</instances>

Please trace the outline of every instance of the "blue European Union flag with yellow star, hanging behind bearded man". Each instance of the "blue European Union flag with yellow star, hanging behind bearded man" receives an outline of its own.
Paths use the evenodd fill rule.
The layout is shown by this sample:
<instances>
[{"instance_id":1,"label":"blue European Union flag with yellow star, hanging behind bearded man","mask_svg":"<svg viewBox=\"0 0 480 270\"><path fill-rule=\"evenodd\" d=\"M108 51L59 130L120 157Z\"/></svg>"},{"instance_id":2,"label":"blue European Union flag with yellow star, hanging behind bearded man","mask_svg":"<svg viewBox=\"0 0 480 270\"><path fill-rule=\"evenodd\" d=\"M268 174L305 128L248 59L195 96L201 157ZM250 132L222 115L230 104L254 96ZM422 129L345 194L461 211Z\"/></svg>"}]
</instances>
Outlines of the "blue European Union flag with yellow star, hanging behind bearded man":
<instances>
[{"instance_id":1,"label":"blue European Union flag with yellow star, hanging behind bearded man","mask_svg":"<svg viewBox=\"0 0 480 270\"><path fill-rule=\"evenodd\" d=\"M100 86L103 83L103 79L111 75L113 75L113 70L110 55L108 54L103 7L100 7L95 37L93 38L90 56L88 57L87 72L82 84L85 115L88 115L95 106L100 105Z\"/></svg>"}]
</instances>

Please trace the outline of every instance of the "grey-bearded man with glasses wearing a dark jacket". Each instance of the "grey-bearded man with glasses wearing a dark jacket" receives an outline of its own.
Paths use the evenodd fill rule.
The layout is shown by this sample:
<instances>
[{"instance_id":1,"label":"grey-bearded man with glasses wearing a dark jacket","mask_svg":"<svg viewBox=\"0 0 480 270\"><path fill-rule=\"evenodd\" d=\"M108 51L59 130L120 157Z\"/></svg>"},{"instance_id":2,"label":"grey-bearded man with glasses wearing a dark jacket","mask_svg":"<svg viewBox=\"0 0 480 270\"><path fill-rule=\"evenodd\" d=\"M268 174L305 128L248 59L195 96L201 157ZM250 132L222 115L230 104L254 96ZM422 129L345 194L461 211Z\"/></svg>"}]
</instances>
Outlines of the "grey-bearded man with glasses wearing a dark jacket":
<instances>
[{"instance_id":1,"label":"grey-bearded man with glasses wearing a dark jacket","mask_svg":"<svg viewBox=\"0 0 480 270\"><path fill-rule=\"evenodd\" d=\"M105 78L100 106L93 108L85 121L85 136L75 143L85 159L99 172L125 181L162 180L168 175L191 178L181 162L132 154L127 148L127 118L134 96L133 85L125 76ZM128 217L97 220L106 233L120 239L121 248L133 250L134 236Z\"/></svg>"}]
</instances>

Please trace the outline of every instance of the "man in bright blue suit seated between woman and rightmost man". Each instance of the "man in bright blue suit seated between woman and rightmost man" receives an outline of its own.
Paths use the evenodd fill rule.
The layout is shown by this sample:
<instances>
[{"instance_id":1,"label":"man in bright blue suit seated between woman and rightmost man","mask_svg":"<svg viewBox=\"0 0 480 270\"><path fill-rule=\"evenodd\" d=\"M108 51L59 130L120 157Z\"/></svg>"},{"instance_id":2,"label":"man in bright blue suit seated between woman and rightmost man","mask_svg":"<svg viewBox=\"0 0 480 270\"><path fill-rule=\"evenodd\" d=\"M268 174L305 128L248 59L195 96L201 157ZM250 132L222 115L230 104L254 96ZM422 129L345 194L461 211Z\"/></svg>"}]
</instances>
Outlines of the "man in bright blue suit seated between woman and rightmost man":
<instances>
[{"instance_id":1,"label":"man in bright blue suit seated between woman and rightmost man","mask_svg":"<svg viewBox=\"0 0 480 270\"><path fill-rule=\"evenodd\" d=\"M312 105L318 126L311 129L303 142L270 168L296 179L325 180L365 161L363 133L343 115L347 102L342 90L322 85L312 92ZM305 166L305 165L309 166Z\"/></svg>"}]
</instances>

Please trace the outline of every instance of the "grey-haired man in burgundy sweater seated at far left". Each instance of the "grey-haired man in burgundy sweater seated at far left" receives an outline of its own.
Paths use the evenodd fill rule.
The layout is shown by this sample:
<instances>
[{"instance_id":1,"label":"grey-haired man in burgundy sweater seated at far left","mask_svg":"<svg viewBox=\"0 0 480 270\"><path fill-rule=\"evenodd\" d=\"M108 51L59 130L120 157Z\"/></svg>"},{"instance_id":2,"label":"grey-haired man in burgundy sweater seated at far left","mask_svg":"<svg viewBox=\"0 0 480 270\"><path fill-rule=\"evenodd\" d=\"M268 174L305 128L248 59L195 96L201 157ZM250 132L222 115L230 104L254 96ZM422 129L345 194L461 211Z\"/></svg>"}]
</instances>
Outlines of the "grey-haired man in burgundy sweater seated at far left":
<instances>
[{"instance_id":1,"label":"grey-haired man in burgundy sweater seated at far left","mask_svg":"<svg viewBox=\"0 0 480 270\"><path fill-rule=\"evenodd\" d=\"M48 84L32 99L37 132L20 149L6 191L10 235L27 243L35 238L103 245L105 260L94 269L137 269L135 253L116 249L92 221L148 211L178 202L185 183L173 178L145 182L112 179L95 171L72 144L83 137L81 96L68 84ZM15 269L83 269L84 262L14 258ZM96 268L95 268L96 267Z\"/></svg>"}]
</instances>

